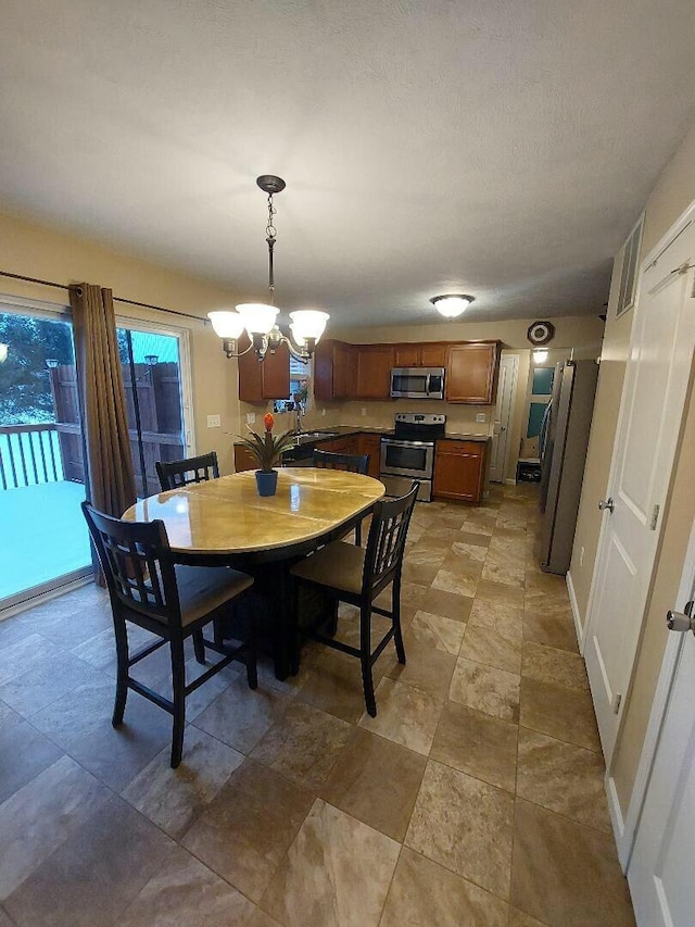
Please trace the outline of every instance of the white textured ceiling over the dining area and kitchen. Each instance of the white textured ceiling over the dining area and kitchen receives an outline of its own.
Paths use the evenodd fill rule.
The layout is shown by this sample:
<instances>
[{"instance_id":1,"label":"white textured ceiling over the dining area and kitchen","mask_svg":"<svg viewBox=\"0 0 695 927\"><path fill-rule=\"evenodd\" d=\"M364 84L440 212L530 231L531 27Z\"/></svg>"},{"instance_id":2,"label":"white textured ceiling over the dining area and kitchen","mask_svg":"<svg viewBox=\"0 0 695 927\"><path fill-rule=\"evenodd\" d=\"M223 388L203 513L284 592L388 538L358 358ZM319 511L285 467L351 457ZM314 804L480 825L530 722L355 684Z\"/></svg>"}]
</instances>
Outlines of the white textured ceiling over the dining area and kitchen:
<instances>
[{"instance_id":1,"label":"white textured ceiling over the dining area and kitchen","mask_svg":"<svg viewBox=\"0 0 695 927\"><path fill-rule=\"evenodd\" d=\"M0 204L341 326L599 314L692 0L4 0ZM0 262L1 263L1 262Z\"/></svg>"}]
</instances>

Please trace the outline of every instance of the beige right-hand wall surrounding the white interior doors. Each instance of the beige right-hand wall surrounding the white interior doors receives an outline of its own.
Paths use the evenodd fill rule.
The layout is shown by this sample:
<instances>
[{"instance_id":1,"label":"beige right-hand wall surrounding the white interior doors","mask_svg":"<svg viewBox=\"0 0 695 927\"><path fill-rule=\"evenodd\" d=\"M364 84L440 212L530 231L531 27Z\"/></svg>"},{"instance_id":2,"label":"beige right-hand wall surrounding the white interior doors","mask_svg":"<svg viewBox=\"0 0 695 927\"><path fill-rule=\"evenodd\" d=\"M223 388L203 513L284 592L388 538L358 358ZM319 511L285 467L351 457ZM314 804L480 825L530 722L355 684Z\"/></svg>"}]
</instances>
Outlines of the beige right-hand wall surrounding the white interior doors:
<instances>
[{"instance_id":1,"label":"beige right-hand wall surrounding the white interior doors","mask_svg":"<svg viewBox=\"0 0 695 927\"><path fill-rule=\"evenodd\" d=\"M695 199L695 127L685 136L645 205L641 259L666 235ZM632 312L615 318L616 280L622 254L616 258L606 337L601 360L598 392L592 424L586 473L580 503L570 576L582 618L585 615L596 556L601 516L596 508L608 485L620 391L624 376ZM623 815L627 812L646 731L666 644L665 614L675 601L693 517L695 515L695 402L686 405L671 492L664 517L664 534L628 704L614 754L611 775ZM584 548L584 564L579 566Z\"/></svg>"}]
</instances>

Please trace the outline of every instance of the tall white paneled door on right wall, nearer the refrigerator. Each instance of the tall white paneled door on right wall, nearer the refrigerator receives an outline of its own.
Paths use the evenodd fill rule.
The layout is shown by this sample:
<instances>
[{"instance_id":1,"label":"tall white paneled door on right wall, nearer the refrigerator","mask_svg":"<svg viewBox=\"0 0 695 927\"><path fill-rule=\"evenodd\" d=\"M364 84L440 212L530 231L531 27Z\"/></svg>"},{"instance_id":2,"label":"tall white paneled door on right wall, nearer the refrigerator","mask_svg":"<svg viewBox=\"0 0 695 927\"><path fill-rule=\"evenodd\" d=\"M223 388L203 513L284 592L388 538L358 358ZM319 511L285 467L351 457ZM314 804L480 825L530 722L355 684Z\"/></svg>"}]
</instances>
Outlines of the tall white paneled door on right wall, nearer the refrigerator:
<instances>
[{"instance_id":1,"label":"tall white paneled door on right wall, nearer the refrigerator","mask_svg":"<svg viewBox=\"0 0 695 927\"><path fill-rule=\"evenodd\" d=\"M615 508L604 512L584 647L607 763L632 674L691 375L694 216L691 208L670 243L649 255L634 310L608 489Z\"/></svg>"}]
</instances>

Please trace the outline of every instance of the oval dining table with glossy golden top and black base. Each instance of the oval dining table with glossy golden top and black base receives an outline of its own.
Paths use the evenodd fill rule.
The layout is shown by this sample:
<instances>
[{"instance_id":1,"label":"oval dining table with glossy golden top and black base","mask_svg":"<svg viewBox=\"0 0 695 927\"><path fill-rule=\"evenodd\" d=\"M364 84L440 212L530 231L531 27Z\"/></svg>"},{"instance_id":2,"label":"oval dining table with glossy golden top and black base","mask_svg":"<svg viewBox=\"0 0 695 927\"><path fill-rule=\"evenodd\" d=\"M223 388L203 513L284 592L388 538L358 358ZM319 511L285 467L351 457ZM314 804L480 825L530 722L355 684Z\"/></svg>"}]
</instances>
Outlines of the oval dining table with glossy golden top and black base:
<instances>
[{"instance_id":1,"label":"oval dining table with glossy golden top and black base","mask_svg":"<svg viewBox=\"0 0 695 927\"><path fill-rule=\"evenodd\" d=\"M258 496L255 472L242 471L140 499L123 517L161 519L178 563L226 564L253 576L243 621L262 626L275 675L285 679L294 672L290 567L344 537L384 493L372 477L303 466L280 467L275 494Z\"/></svg>"}]
</instances>

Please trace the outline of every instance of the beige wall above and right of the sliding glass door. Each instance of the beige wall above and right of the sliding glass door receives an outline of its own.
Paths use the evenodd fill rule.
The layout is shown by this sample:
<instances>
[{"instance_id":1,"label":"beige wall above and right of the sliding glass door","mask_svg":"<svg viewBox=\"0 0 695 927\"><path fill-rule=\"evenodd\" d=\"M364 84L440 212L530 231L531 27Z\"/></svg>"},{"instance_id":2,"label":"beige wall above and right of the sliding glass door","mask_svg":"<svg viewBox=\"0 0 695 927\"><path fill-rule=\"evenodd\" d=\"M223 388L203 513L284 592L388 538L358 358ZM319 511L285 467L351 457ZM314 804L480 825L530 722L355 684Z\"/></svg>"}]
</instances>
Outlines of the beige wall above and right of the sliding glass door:
<instances>
[{"instance_id":1,"label":"beige wall above and right of the sliding glass door","mask_svg":"<svg viewBox=\"0 0 695 927\"><path fill-rule=\"evenodd\" d=\"M165 270L94 242L0 213L0 270L56 284L91 283L114 296L200 315L233 305L229 290L193 276ZM0 295L67 303L67 293L0 277ZM233 469L232 441L239 430L237 363L227 361L212 327L201 322L116 302L126 318L155 322L190 333L195 450L215 449L225 473ZM206 416L219 414L222 428L207 428Z\"/></svg>"}]
</instances>

